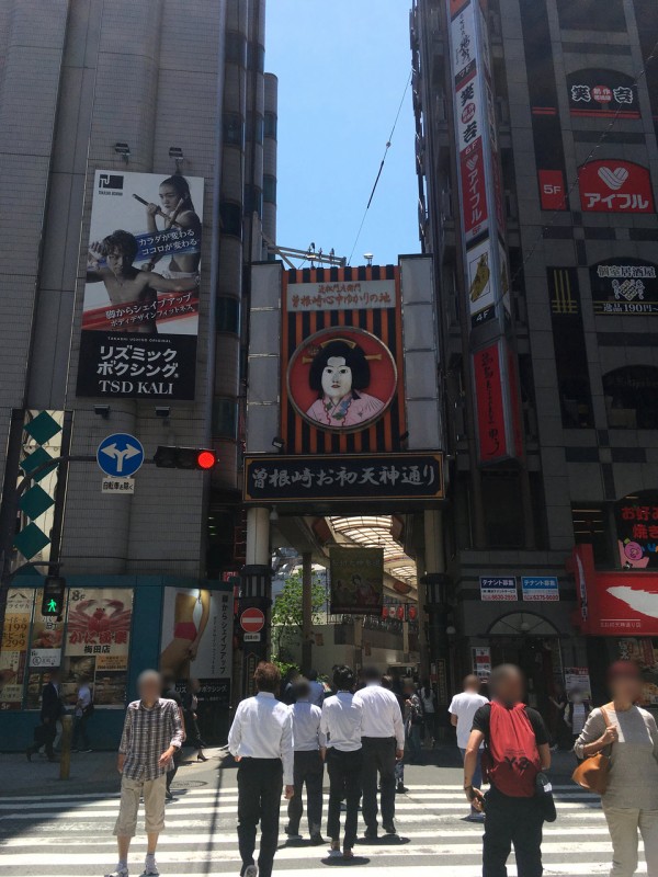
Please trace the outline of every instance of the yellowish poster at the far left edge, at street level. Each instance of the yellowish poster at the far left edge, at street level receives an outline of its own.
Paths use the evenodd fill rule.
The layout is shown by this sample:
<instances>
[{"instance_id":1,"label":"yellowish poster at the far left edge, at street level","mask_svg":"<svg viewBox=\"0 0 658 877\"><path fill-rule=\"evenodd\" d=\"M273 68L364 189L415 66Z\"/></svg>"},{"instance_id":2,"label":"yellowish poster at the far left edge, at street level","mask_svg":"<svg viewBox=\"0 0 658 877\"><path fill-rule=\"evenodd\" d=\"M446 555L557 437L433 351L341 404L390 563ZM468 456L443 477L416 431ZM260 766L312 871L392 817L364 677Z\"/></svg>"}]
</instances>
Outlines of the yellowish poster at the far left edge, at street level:
<instances>
[{"instance_id":1,"label":"yellowish poster at the far left edge, at street level","mask_svg":"<svg viewBox=\"0 0 658 877\"><path fill-rule=\"evenodd\" d=\"M11 588L7 595L0 651L0 709L20 709L27 665L34 591Z\"/></svg>"}]
</instances>

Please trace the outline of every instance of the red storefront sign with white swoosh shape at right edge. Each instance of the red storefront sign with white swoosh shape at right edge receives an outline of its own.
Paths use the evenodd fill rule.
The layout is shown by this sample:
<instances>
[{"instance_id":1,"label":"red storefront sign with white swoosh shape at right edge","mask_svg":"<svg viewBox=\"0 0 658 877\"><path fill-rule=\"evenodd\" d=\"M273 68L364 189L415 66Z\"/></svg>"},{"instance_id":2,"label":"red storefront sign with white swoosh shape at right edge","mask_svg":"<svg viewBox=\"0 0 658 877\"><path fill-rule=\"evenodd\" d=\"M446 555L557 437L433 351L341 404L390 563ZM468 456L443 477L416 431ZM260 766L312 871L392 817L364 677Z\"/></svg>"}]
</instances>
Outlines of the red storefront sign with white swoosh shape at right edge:
<instances>
[{"instance_id":1,"label":"red storefront sign with white swoosh shape at right edge","mask_svg":"<svg viewBox=\"0 0 658 877\"><path fill-rule=\"evenodd\" d=\"M574 549L579 613L576 624L592 636L658 636L658 576L637 569L599 572L591 545Z\"/></svg>"}]
</instances>

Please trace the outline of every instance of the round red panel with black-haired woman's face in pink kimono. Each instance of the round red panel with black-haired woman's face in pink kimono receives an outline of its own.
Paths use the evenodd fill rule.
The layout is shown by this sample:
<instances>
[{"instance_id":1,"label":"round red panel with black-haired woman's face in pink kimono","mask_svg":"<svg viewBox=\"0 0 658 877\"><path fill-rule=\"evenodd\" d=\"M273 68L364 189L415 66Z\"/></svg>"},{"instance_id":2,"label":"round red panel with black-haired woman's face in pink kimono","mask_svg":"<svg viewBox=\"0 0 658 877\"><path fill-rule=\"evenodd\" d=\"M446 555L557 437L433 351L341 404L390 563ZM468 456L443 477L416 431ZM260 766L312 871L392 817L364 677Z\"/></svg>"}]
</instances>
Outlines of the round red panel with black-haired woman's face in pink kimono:
<instances>
[{"instance_id":1,"label":"round red panel with black-haired woman's face in pink kimono","mask_svg":"<svg viewBox=\"0 0 658 877\"><path fill-rule=\"evenodd\" d=\"M397 388L393 354L376 335L351 326L322 329L293 353L288 398L319 430L358 432L377 421Z\"/></svg>"}]
</instances>

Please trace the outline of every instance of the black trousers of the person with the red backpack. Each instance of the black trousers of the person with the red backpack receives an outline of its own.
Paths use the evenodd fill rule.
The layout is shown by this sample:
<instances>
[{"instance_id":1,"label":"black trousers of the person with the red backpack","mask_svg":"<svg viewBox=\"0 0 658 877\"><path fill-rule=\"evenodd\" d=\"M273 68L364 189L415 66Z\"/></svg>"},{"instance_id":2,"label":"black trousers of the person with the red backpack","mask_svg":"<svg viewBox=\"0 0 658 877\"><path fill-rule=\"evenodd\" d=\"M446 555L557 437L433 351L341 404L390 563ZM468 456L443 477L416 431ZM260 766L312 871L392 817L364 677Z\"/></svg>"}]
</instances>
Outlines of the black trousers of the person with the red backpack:
<instances>
[{"instance_id":1,"label":"black trousers of the person with the red backpack","mask_svg":"<svg viewBox=\"0 0 658 877\"><path fill-rule=\"evenodd\" d=\"M542 877L542 825L537 798L511 798L491 786L486 795L483 877L507 877L506 863L514 846L519 877Z\"/></svg>"}]
</instances>

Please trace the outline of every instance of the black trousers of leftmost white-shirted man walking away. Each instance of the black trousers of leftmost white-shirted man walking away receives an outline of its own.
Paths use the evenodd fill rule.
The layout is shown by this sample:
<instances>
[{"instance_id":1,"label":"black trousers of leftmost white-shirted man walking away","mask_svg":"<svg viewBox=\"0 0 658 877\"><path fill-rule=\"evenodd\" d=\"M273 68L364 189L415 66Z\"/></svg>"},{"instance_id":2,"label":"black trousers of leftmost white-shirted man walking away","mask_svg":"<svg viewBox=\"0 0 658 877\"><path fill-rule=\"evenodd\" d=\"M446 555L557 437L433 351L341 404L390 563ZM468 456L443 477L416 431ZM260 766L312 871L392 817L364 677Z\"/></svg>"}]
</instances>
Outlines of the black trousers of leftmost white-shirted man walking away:
<instances>
[{"instance_id":1,"label":"black trousers of leftmost white-shirted man walking away","mask_svg":"<svg viewBox=\"0 0 658 877\"><path fill-rule=\"evenodd\" d=\"M242 869L253 865L256 830L260 822L260 877L270 877L279 844L279 813L283 791L280 759L242 759L238 767L238 845Z\"/></svg>"}]
</instances>

